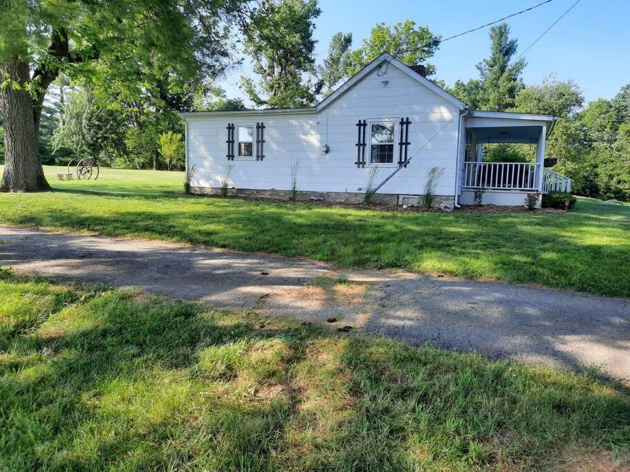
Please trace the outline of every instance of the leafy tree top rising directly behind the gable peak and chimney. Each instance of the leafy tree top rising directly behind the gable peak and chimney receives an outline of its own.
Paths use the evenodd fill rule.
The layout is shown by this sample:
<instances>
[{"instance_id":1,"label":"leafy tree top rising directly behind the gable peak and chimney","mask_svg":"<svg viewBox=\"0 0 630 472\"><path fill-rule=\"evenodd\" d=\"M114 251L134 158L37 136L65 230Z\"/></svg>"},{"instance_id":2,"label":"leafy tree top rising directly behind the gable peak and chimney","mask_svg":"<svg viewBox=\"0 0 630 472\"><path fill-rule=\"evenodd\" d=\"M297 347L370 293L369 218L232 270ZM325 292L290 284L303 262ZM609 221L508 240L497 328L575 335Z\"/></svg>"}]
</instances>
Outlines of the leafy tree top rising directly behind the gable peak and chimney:
<instances>
[{"instance_id":1,"label":"leafy tree top rising directly behind the gable peak and chimney","mask_svg":"<svg viewBox=\"0 0 630 472\"><path fill-rule=\"evenodd\" d=\"M432 75L435 67L426 61L436 53L439 45L440 37L428 26L417 26L410 19L393 26L378 23L372 28L369 39L364 39L362 46L352 51L346 75L355 75L382 53L389 53L408 66L424 64L427 75Z\"/></svg>"}]
</instances>

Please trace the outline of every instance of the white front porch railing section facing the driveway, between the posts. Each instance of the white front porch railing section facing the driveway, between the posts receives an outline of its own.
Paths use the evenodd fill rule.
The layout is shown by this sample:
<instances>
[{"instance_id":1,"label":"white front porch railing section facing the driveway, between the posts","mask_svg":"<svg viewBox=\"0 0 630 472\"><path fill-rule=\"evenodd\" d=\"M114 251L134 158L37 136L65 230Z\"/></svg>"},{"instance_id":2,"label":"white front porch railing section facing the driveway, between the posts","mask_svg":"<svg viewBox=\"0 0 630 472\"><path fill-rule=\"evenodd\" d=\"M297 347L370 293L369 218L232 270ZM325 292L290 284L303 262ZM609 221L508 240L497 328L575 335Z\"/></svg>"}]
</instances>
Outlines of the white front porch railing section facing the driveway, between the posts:
<instances>
[{"instance_id":1,"label":"white front porch railing section facing the driveway, between the posts","mask_svg":"<svg viewBox=\"0 0 630 472\"><path fill-rule=\"evenodd\" d=\"M539 164L532 162L464 162L463 187L536 190ZM559 174L558 174L559 175Z\"/></svg>"}]
</instances>

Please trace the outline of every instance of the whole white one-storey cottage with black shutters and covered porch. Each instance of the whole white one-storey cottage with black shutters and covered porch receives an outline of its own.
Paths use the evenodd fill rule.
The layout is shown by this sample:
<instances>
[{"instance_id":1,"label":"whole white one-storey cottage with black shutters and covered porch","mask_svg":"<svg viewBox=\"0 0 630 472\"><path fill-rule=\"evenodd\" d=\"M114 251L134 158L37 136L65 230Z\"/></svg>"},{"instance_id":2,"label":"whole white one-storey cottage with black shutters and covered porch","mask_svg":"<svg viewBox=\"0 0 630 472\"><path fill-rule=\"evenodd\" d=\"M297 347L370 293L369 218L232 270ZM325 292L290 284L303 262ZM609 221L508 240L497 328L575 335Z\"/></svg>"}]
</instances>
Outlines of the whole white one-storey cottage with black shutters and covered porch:
<instances>
[{"instance_id":1,"label":"whole white one-storey cottage with black shutters and covered porch","mask_svg":"<svg viewBox=\"0 0 630 472\"><path fill-rule=\"evenodd\" d=\"M436 204L523 205L526 193L571 190L544 168L546 136L556 117L474 111L383 54L310 108L182 113L191 191L217 193L231 168L232 193L360 202L372 172L373 200L414 204L427 171L438 168ZM537 144L536 162L482 162L482 144ZM373 169L376 167L376 171Z\"/></svg>"}]
</instances>

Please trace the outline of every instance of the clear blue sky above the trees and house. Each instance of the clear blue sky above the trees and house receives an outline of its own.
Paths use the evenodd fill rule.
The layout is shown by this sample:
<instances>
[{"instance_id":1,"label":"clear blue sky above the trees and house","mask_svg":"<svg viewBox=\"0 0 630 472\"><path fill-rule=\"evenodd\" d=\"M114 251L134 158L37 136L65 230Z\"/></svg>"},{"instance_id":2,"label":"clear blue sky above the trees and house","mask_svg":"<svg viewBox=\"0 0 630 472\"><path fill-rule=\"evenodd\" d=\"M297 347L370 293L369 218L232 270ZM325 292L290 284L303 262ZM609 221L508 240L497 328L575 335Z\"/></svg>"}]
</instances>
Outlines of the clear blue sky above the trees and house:
<instances>
[{"instance_id":1,"label":"clear blue sky above the trees and house","mask_svg":"<svg viewBox=\"0 0 630 472\"><path fill-rule=\"evenodd\" d=\"M319 0L322 15L316 21L317 62L326 57L328 43L337 31L352 32L353 47L369 36L378 22L393 24L412 19L427 25L436 35L448 37L541 0ZM524 50L575 0L553 0L535 10L508 20L512 37ZM630 0L582 0L524 56L526 84L541 82L555 73L558 79L573 79L587 101L611 98L630 83ZM441 44L430 59L436 78L452 85L456 79L476 77L477 64L488 55L488 28ZM247 65L245 71L249 71ZM243 97L235 82L237 69L223 81L228 96Z\"/></svg>"}]
</instances>

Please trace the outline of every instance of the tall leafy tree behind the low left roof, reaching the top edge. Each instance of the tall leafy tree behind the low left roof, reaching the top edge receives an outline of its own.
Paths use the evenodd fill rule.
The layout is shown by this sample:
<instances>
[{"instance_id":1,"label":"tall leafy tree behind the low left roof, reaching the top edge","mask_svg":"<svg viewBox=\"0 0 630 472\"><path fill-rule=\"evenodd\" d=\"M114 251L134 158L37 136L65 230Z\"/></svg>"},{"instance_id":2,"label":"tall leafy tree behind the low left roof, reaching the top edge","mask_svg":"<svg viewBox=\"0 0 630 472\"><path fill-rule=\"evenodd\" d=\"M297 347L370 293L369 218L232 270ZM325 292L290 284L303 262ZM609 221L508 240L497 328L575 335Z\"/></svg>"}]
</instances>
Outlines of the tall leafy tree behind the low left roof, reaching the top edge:
<instances>
[{"instance_id":1,"label":"tall leafy tree behind the low left roof, reaching the top edge","mask_svg":"<svg viewBox=\"0 0 630 472\"><path fill-rule=\"evenodd\" d=\"M315 70L313 39L317 0L263 0L245 28L245 52L252 57L257 84L243 77L243 91L257 106L310 106L318 91L308 73Z\"/></svg>"}]
</instances>

